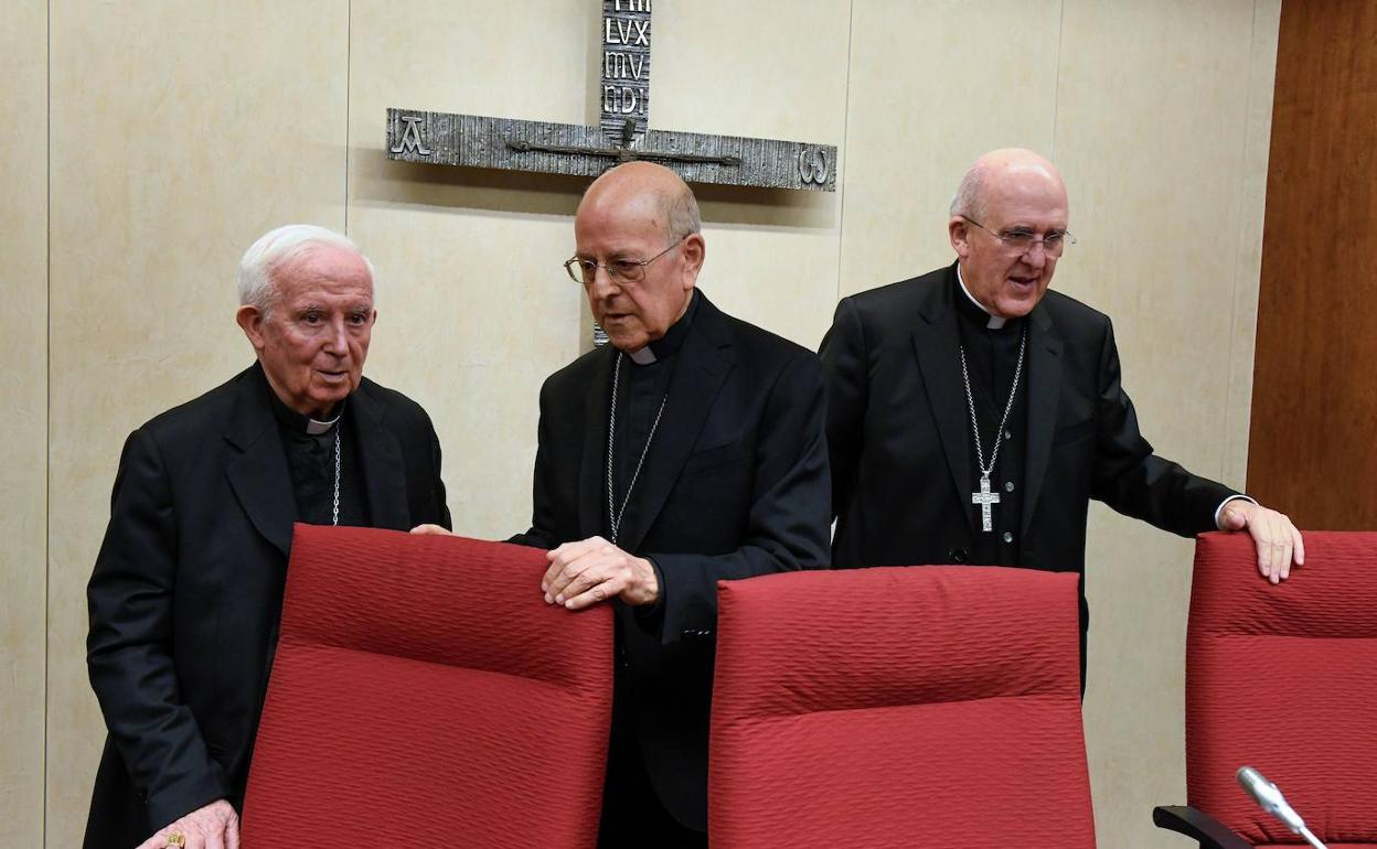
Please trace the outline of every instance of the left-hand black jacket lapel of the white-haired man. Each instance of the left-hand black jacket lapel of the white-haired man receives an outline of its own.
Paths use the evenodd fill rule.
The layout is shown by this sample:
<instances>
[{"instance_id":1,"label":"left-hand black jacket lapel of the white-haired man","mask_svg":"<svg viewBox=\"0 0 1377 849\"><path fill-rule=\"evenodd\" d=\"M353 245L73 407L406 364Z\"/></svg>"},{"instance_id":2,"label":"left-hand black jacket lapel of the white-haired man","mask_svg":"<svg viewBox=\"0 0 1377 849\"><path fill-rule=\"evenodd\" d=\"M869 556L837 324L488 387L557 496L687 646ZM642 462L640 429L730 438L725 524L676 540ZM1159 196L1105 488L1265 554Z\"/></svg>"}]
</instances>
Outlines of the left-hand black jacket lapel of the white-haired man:
<instances>
[{"instance_id":1,"label":"left-hand black jacket lapel of the white-haired man","mask_svg":"<svg viewBox=\"0 0 1377 849\"><path fill-rule=\"evenodd\" d=\"M271 389L267 378L259 366L251 370L257 373L246 374L240 381L234 416L224 431L224 439L241 451L229 462L226 475L257 533L286 555L292 545L292 522L296 520L292 476L286 469L282 436L269 406L266 394Z\"/></svg>"}]
</instances>

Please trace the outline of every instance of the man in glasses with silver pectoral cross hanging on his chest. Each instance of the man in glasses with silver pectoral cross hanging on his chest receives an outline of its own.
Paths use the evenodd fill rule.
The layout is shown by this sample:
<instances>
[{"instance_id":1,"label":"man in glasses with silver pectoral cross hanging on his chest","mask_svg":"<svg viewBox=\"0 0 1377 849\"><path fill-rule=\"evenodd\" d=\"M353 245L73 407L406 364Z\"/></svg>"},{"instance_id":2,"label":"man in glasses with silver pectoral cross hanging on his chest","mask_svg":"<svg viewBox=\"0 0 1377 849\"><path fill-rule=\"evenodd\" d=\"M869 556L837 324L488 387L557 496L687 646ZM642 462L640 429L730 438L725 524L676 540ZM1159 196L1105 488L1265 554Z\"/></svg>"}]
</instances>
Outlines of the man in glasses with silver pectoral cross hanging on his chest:
<instances>
[{"instance_id":1,"label":"man in glasses with silver pectoral cross hanging on his chest","mask_svg":"<svg viewBox=\"0 0 1377 849\"><path fill-rule=\"evenodd\" d=\"M844 299L822 340L833 566L1081 571L1096 498L1181 535L1246 528L1286 578L1305 556L1290 520L1154 454L1108 316L1048 292L1075 242L1056 168L991 151L950 215L952 266Z\"/></svg>"}]
</instances>

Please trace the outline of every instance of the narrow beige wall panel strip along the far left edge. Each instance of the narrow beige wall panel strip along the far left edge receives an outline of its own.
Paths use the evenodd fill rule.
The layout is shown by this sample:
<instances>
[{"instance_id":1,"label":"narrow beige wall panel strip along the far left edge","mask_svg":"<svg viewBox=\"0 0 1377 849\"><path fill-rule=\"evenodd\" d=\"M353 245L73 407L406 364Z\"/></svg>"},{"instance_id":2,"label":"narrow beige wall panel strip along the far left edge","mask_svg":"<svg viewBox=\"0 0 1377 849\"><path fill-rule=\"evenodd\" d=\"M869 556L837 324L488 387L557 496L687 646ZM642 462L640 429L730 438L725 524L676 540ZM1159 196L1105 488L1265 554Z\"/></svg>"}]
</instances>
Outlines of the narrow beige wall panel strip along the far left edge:
<instances>
[{"instance_id":1,"label":"narrow beige wall panel strip along the far left edge","mask_svg":"<svg viewBox=\"0 0 1377 849\"><path fill-rule=\"evenodd\" d=\"M43 845L48 453L48 10L0 28L0 846Z\"/></svg>"}]
</instances>

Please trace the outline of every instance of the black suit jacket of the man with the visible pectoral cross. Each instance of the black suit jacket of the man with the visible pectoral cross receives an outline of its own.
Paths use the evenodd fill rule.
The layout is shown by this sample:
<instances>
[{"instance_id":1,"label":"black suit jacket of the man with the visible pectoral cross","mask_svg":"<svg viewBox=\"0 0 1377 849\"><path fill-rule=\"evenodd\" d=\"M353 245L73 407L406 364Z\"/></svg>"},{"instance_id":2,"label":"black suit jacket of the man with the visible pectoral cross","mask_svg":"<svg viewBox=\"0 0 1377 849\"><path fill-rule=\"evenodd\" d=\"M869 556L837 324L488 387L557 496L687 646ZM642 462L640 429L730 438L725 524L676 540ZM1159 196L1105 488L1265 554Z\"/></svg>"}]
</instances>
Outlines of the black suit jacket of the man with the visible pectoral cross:
<instances>
[{"instance_id":1,"label":"black suit jacket of the man with the visible pectoral cross","mask_svg":"<svg viewBox=\"0 0 1377 849\"><path fill-rule=\"evenodd\" d=\"M974 550L952 264L837 304L821 350L836 567L965 563ZM1153 453L1108 316L1049 290L1029 314L1027 356L1019 566L1082 571L1091 498L1176 534L1215 530L1237 493Z\"/></svg>"}]
</instances>

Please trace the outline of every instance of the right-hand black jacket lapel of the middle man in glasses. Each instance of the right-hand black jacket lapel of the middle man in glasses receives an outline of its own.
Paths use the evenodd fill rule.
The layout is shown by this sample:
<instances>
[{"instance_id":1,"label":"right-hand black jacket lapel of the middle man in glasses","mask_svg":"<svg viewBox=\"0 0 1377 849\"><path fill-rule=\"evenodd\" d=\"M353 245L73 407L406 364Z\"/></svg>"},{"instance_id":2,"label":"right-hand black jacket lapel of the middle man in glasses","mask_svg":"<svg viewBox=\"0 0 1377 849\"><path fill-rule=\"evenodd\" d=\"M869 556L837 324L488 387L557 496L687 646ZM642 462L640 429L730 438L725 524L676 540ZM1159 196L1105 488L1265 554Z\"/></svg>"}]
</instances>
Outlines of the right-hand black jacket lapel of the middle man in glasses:
<instances>
[{"instance_id":1,"label":"right-hand black jacket lapel of the middle man in glasses","mask_svg":"<svg viewBox=\"0 0 1377 849\"><path fill-rule=\"evenodd\" d=\"M639 502L638 520L632 534L617 541L618 548L635 552L665 506L684 461L698 442L698 433L712 413L722 381L731 372L731 340L722 312L700 293L700 303L683 347L676 354L673 377L669 380L669 399L655 433L654 444L646 454L646 468L633 499ZM606 422L605 422L606 429ZM606 431L605 431L606 432ZM599 464L605 468L606 458Z\"/></svg>"}]
</instances>

